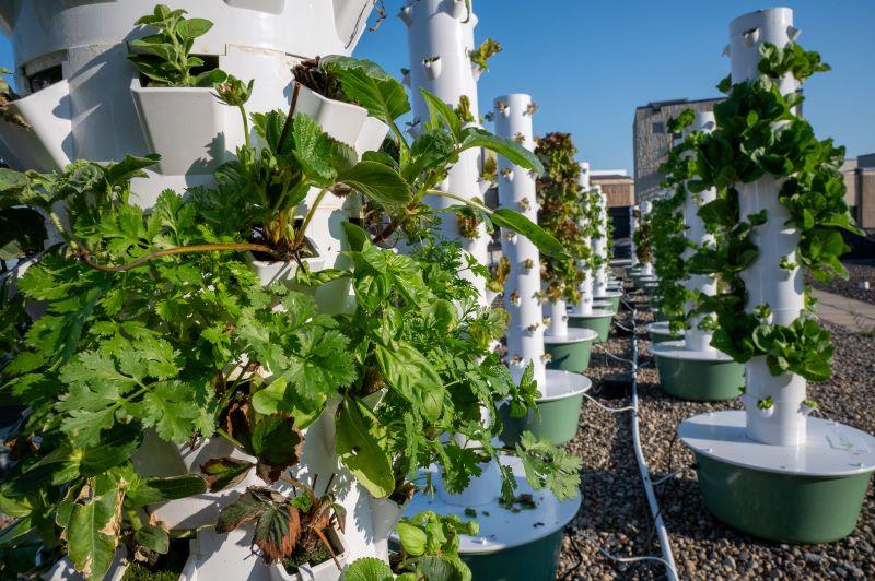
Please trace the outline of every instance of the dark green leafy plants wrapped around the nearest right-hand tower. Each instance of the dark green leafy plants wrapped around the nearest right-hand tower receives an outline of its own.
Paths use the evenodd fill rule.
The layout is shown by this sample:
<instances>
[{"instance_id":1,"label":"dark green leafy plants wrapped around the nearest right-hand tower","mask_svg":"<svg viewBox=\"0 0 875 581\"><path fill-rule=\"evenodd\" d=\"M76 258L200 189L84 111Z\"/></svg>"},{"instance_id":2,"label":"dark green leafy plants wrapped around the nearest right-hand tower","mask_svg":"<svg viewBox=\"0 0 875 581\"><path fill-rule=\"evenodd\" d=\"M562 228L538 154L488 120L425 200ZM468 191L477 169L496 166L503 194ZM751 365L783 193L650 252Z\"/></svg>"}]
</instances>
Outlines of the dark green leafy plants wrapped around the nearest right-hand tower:
<instances>
[{"instance_id":1,"label":"dark green leafy plants wrapped around the nearest right-hand tower","mask_svg":"<svg viewBox=\"0 0 875 581\"><path fill-rule=\"evenodd\" d=\"M803 100L801 93L782 95L779 88L786 74L803 82L829 70L820 56L795 43L786 48L763 44L760 55L759 78L734 85L728 79L721 82L720 88L730 95L715 106L718 129L696 150L699 178L690 181L690 188L718 188L718 200L704 205L700 215L721 236L716 248L702 249L693 257L689 269L715 274L721 281L723 290L708 299L708 307L718 315L714 346L743 363L765 355L774 375L793 372L820 381L830 376L828 331L804 313L791 325L781 327L745 310L748 296L738 273L757 259L759 250L751 235L768 216L739 216L735 186L767 176L782 180L779 200L801 235L793 262L818 281L847 277L839 261L845 250L841 230L858 228L844 203L839 171L844 149L830 139L818 140L808 121L795 115Z\"/></svg>"}]
</instances>

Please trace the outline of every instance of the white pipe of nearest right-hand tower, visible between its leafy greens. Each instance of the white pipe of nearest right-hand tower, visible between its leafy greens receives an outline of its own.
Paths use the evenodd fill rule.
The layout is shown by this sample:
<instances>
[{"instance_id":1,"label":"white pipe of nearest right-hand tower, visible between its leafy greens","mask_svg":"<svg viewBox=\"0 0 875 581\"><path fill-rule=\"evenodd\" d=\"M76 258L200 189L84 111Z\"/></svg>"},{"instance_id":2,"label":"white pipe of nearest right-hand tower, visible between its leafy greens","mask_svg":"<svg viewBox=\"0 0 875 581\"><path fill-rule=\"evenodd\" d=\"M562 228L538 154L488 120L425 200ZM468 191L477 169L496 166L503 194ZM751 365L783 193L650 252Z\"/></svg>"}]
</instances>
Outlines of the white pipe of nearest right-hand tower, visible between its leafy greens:
<instances>
[{"instance_id":1,"label":"white pipe of nearest right-hand tower, visible between its leafy greens","mask_svg":"<svg viewBox=\"0 0 875 581\"><path fill-rule=\"evenodd\" d=\"M771 43L788 46L798 35L793 27L793 11L773 8L745 14L730 24L730 58L732 81L739 83L759 76L759 46ZM791 75L781 80L783 94L795 92L798 84ZM790 213L778 201L780 181L763 177L752 183L738 185L738 204L742 220L766 211L766 224L754 228L752 241L759 248L756 262L740 273L747 287L746 309L768 305L771 322L788 325L796 320L804 307L802 272L795 265L795 251L800 233L788 224ZM790 263L790 270L780 264ZM805 380L794 374L772 376L765 357L755 357L746 366L745 410L747 435L757 441L773 446L800 446L805 442L806 416L803 408ZM760 410L758 403L767 398L774 401L770 410Z\"/></svg>"}]
</instances>

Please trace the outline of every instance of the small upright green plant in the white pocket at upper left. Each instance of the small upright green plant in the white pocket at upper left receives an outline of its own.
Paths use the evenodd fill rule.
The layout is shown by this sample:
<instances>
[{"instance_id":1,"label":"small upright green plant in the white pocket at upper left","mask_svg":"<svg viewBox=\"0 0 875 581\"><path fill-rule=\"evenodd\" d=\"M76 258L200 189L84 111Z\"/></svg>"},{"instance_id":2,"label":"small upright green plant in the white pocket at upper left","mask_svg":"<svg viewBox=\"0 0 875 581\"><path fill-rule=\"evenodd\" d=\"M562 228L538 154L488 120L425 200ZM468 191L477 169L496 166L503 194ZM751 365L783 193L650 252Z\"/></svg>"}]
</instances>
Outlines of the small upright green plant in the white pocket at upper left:
<instances>
[{"instance_id":1,"label":"small upright green plant in the white pocket at upper left","mask_svg":"<svg viewBox=\"0 0 875 581\"><path fill-rule=\"evenodd\" d=\"M129 59L150 80L150 86L211 87L225 78L219 69L203 70L205 61L191 55L195 40L212 28L205 19L187 19L185 10L171 10L164 4L136 24L158 31L128 43Z\"/></svg>"}]
</instances>

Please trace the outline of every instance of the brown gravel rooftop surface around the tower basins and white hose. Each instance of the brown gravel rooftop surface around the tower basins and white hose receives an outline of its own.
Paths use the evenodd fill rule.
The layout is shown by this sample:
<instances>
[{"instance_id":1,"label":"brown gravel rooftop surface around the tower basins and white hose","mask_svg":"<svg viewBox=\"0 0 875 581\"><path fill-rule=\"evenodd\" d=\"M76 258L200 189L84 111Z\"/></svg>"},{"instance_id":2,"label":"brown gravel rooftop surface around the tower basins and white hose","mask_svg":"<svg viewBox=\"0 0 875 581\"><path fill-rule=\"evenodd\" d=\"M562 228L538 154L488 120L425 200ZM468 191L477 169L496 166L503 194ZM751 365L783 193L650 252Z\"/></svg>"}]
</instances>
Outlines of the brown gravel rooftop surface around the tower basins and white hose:
<instances>
[{"instance_id":1,"label":"brown gravel rooftop surface around the tower basins and white hose","mask_svg":"<svg viewBox=\"0 0 875 581\"><path fill-rule=\"evenodd\" d=\"M640 303L642 297L638 298ZM658 387L643 325L652 320L638 310L639 403L641 441L654 481L682 467L693 458L674 441L678 425L707 411L742 408L740 402L693 403L670 399ZM620 319L629 313L621 312ZM827 323L828 324L828 323ZM830 325L837 346L835 376L813 386L821 417L838 419L875 432L870 402L875 393L871 354L875 339ZM593 349L587 375L596 390L605 376L628 372L628 366L596 352L630 357L631 340L612 339ZM596 391L596 398L599 398ZM599 399L611 407L631 404L631 398ZM611 414L584 401L581 424L568 444L583 460L581 510L565 535L558 579L665 579L658 562L618 564L599 554L593 540L617 557L662 556L653 531L644 488L635 463L629 412ZM872 488L856 531L848 538L817 546L784 545L736 532L711 515L702 505L692 470L656 486L678 573L682 579L875 579L875 499Z\"/></svg>"}]
</instances>

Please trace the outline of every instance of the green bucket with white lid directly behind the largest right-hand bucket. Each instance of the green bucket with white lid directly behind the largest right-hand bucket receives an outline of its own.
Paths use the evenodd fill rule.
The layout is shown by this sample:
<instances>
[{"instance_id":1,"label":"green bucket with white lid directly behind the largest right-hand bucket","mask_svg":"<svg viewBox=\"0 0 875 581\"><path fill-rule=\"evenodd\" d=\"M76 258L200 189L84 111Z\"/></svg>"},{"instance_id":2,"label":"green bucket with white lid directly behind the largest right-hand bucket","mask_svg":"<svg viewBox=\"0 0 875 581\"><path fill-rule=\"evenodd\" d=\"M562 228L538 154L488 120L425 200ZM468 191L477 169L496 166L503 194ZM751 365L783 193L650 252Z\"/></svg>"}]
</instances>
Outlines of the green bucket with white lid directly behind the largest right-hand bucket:
<instances>
[{"instance_id":1,"label":"green bucket with white lid directly behind the largest right-hand bucket","mask_svg":"<svg viewBox=\"0 0 875 581\"><path fill-rule=\"evenodd\" d=\"M650 346L660 371L660 387L678 400L719 402L740 395L745 366L721 352L688 351L684 341Z\"/></svg>"}]
</instances>

